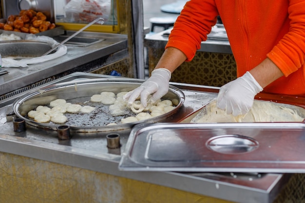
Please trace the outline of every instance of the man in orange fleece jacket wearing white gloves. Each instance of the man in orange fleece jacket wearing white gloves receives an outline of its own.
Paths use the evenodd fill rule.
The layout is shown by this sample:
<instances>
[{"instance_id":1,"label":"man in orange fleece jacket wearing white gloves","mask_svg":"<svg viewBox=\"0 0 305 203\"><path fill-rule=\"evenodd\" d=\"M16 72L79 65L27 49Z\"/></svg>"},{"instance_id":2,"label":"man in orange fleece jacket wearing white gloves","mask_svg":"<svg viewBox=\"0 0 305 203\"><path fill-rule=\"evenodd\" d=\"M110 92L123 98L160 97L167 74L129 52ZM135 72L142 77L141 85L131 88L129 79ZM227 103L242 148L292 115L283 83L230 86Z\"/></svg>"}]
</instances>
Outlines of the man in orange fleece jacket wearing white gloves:
<instances>
[{"instance_id":1,"label":"man in orange fleece jacket wearing white gloves","mask_svg":"<svg viewBox=\"0 0 305 203\"><path fill-rule=\"evenodd\" d=\"M238 78L220 88L217 107L247 113L263 91L305 95L305 0L190 0L177 18L152 76L126 94L152 102L168 92L171 73L190 61L220 16L237 63Z\"/></svg>"}]
</instances>

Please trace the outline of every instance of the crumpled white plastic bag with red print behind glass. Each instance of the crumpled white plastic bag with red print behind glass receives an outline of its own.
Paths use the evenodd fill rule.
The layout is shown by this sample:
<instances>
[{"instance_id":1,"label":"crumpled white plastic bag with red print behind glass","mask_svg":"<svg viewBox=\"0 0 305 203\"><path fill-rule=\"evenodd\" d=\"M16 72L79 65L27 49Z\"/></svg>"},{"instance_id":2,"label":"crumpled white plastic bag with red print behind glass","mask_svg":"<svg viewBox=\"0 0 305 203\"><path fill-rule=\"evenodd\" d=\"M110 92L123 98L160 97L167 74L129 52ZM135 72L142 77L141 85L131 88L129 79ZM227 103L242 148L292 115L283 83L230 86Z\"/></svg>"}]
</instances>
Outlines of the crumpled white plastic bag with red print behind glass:
<instances>
[{"instance_id":1,"label":"crumpled white plastic bag with red print behind glass","mask_svg":"<svg viewBox=\"0 0 305 203\"><path fill-rule=\"evenodd\" d=\"M65 22L88 23L96 18L108 20L111 0L71 0L64 7Z\"/></svg>"}]
</instances>

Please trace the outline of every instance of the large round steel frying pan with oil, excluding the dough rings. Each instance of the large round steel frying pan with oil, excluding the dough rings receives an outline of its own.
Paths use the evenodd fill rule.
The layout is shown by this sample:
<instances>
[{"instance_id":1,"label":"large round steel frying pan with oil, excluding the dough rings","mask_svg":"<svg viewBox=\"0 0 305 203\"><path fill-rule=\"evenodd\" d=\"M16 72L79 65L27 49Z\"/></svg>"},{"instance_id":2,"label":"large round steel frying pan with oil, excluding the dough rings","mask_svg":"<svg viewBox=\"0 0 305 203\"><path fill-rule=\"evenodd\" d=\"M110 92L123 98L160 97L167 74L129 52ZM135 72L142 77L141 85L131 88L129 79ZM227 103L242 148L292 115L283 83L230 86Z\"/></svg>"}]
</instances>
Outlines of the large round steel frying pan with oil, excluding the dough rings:
<instances>
[{"instance_id":1,"label":"large round steel frying pan with oil, excluding the dough rings","mask_svg":"<svg viewBox=\"0 0 305 203\"><path fill-rule=\"evenodd\" d=\"M55 123L38 123L27 116L27 113L31 110L35 110L39 105L48 106L49 103L56 99L65 99L72 104L80 104L81 106L95 106L95 111L92 113L70 113L68 121L64 125L70 126L72 132L102 132L121 129L131 129L134 125L142 122L156 123L160 122L172 114L174 114L183 105L185 95L184 93L170 86L169 92L161 99L176 99L178 104L175 108L163 115L152 117L150 119L132 122L127 124L119 123L121 118L128 116L134 116L132 111L126 115L112 116L109 113L109 105L103 105L97 102L91 102L90 97L94 94L100 94L101 92L129 92L138 86L141 82L133 79L123 78L103 78L103 79L81 79L71 82L58 83L50 85L42 89L29 92L22 97L19 97L13 105L15 114L24 119L26 124L42 129L57 130L58 126L63 124ZM106 126L107 123L117 123L117 125Z\"/></svg>"}]
</instances>

